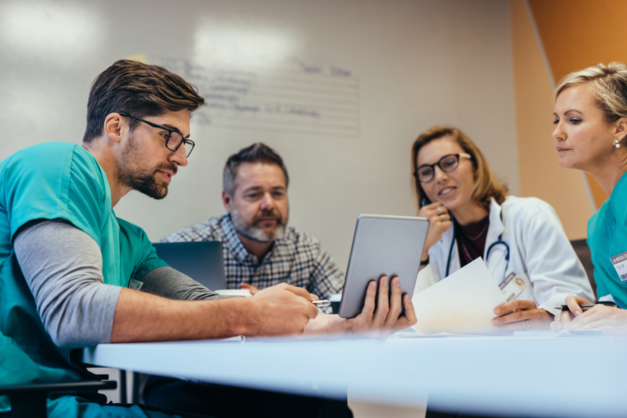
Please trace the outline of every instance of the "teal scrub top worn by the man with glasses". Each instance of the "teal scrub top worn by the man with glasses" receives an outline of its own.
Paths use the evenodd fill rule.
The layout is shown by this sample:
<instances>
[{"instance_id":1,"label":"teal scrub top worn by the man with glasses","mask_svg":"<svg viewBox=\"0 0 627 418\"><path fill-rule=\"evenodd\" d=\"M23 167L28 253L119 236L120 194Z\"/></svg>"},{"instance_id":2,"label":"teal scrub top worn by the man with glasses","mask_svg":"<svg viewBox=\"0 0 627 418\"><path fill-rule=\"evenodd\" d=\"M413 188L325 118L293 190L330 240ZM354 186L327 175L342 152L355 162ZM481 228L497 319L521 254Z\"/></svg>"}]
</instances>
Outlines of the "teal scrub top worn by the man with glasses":
<instances>
[{"instance_id":1,"label":"teal scrub top worn by the man with glasses","mask_svg":"<svg viewBox=\"0 0 627 418\"><path fill-rule=\"evenodd\" d=\"M0 385L93 379L46 332L13 250L19 227L57 218L96 241L107 285L167 266L140 227L115 216L107 175L80 145L34 145L0 162ZM7 409L0 397L0 412Z\"/></svg>"}]
</instances>

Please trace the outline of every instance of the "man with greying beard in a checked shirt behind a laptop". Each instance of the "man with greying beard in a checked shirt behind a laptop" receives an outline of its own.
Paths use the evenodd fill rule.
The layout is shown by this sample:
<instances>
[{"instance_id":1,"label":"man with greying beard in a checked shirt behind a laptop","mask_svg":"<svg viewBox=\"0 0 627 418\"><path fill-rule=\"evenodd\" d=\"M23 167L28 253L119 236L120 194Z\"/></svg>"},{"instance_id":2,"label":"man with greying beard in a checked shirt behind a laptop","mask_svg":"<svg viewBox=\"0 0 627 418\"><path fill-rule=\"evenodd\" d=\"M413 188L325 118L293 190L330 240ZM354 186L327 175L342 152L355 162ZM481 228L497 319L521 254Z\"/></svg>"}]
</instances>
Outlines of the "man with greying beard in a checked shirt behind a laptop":
<instances>
[{"instance_id":1,"label":"man with greying beard in a checked shirt behind a laptop","mask_svg":"<svg viewBox=\"0 0 627 418\"><path fill-rule=\"evenodd\" d=\"M224 165L222 201L227 214L161 241L221 241L229 289L254 295L285 282L329 298L342 289L344 275L317 239L287 226L288 184L280 155L260 142L250 145Z\"/></svg>"}]
</instances>

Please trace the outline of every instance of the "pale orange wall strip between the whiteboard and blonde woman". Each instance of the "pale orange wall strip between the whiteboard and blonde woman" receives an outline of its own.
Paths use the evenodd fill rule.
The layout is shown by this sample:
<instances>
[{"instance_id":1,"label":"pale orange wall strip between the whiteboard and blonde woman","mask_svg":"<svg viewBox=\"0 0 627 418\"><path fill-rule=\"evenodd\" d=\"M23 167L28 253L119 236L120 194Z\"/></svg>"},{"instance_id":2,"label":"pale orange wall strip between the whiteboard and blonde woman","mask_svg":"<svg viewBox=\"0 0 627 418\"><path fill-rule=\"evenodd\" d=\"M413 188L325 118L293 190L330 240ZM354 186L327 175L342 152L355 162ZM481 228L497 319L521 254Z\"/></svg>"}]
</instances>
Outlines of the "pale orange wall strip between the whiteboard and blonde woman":
<instances>
[{"instance_id":1,"label":"pale orange wall strip between the whiteboard and blonde woman","mask_svg":"<svg viewBox=\"0 0 627 418\"><path fill-rule=\"evenodd\" d=\"M561 169L551 138L552 81L524 0L510 0L520 196L554 207L569 239L586 238L593 209L581 174Z\"/></svg>"}]
</instances>

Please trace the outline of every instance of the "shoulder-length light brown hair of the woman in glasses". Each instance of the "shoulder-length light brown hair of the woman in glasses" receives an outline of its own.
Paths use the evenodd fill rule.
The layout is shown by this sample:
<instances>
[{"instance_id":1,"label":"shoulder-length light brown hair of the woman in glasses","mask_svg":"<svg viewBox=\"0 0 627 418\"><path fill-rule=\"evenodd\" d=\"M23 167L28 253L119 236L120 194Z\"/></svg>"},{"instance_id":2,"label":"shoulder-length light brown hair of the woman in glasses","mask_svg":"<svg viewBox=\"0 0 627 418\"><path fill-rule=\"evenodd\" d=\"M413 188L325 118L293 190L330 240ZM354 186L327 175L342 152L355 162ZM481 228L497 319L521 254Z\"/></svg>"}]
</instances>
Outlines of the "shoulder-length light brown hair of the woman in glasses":
<instances>
[{"instance_id":1,"label":"shoulder-length light brown hair of the woman in glasses","mask_svg":"<svg viewBox=\"0 0 627 418\"><path fill-rule=\"evenodd\" d=\"M488 165L487 160L477 148L477 145L458 128L438 125L418 135L418 138L414 141L414 145L411 146L412 172L415 173L416 169L418 169L418 152L420 152L420 149L424 145L429 144L429 142L446 136L451 137L456 144L460 145L461 149L463 149L466 154L470 154L472 157L472 164L473 167L475 167L475 187L472 193L473 200L482 204L488 211L490 210L490 197L493 197L498 204L503 203L505 197L507 197L507 185L500 183L496 179L492 170L490 170L490 165ZM418 209L423 206L423 199L426 200L427 204L431 203L415 176L413 184L416 187Z\"/></svg>"}]
</instances>

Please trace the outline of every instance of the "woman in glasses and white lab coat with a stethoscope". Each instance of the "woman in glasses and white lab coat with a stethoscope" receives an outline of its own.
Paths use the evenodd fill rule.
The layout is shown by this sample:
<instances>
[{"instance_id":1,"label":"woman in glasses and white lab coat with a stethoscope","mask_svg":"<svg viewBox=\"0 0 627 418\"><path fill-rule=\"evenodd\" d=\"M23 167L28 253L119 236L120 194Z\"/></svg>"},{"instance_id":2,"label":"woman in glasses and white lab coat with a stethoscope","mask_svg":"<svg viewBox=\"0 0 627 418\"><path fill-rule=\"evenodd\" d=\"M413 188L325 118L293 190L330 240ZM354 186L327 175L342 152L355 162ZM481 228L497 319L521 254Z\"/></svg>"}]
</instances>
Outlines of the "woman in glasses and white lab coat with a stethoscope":
<instances>
[{"instance_id":1,"label":"woman in glasses and white lab coat with a stethoscope","mask_svg":"<svg viewBox=\"0 0 627 418\"><path fill-rule=\"evenodd\" d=\"M412 164L418 216L430 221L414 294L481 257L508 300L494 309L500 330L549 329L566 296L594 298L553 208L535 197L508 196L460 130L421 133Z\"/></svg>"}]
</instances>

